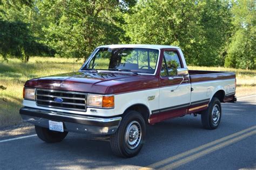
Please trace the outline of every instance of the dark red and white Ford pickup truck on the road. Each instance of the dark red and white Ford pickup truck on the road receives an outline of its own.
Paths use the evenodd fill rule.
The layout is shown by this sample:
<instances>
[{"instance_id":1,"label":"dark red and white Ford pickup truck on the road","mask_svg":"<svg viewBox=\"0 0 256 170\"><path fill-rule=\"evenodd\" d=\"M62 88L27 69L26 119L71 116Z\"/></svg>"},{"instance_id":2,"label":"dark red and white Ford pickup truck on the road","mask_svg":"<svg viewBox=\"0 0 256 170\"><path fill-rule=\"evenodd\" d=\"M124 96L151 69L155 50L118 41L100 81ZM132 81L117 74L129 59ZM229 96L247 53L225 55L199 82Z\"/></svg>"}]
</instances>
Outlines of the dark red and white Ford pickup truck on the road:
<instances>
[{"instance_id":1,"label":"dark red and white Ford pickup truck on the road","mask_svg":"<svg viewBox=\"0 0 256 170\"><path fill-rule=\"evenodd\" d=\"M62 141L68 132L110 136L112 151L138 154L146 124L200 114L216 129L221 102L234 102L235 73L188 70L179 47L106 45L78 72L29 80L22 118L39 138Z\"/></svg>"}]
</instances>

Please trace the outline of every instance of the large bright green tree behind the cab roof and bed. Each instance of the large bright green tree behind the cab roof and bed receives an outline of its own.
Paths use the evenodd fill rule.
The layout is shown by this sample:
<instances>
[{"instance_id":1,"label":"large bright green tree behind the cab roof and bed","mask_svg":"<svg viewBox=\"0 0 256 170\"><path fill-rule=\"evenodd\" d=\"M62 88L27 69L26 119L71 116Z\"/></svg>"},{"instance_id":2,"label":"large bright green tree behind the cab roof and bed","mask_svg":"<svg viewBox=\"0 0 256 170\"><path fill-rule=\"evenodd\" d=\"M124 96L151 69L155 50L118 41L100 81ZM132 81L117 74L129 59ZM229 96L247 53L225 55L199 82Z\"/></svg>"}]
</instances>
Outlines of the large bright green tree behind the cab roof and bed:
<instances>
[{"instance_id":1,"label":"large bright green tree behind the cab roof and bed","mask_svg":"<svg viewBox=\"0 0 256 170\"><path fill-rule=\"evenodd\" d=\"M189 64L213 66L223 64L228 16L228 4L220 1L140 1L124 28L132 43L179 46Z\"/></svg>"}]
</instances>

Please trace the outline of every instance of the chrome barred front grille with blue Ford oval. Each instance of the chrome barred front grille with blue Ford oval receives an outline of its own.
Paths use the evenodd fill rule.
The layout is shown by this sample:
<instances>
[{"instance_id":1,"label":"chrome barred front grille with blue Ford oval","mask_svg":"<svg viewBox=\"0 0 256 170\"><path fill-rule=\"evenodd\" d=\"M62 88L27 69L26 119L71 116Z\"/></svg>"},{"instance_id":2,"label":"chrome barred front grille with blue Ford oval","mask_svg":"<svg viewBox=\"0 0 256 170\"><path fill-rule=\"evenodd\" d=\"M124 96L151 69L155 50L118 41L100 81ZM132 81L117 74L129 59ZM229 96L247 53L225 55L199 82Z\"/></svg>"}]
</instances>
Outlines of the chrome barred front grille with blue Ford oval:
<instances>
[{"instance_id":1,"label":"chrome barred front grille with blue Ford oval","mask_svg":"<svg viewBox=\"0 0 256 170\"><path fill-rule=\"evenodd\" d=\"M61 98L62 102L55 99ZM43 107L86 111L86 94L72 91L36 89L36 104Z\"/></svg>"}]
</instances>

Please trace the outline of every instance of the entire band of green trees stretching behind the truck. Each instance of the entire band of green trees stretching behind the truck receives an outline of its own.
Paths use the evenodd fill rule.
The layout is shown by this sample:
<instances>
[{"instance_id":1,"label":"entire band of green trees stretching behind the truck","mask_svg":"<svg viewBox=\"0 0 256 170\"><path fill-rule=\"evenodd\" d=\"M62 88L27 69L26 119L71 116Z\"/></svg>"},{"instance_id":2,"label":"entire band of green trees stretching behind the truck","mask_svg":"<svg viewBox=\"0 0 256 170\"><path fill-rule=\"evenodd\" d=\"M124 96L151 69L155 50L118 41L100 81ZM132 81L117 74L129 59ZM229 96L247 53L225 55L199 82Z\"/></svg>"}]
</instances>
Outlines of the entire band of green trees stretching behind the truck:
<instances>
[{"instance_id":1,"label":"entire band of green trees stretching behind the truck","mask_svg":"<svg viewBox=\"0 0 256 170\"><path fill-rule=\"evenodd\" d=\"M252 0L0 0L0 52L86 59L99 45L161 44L189 65L255 69L255 16Z\"/></svg>"}]
</instances>

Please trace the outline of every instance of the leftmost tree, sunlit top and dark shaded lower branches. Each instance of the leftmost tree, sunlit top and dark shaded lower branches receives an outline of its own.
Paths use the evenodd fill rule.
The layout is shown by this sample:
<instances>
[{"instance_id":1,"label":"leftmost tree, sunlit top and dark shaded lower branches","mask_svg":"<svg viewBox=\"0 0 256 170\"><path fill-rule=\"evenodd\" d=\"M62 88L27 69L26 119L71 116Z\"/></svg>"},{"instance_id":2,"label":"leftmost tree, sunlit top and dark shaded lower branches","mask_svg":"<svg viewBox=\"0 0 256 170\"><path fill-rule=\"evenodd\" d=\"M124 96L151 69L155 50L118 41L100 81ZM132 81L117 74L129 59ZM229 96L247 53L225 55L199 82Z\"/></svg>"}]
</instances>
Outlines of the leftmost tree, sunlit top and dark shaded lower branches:
<instances>
[{"instance_id":1,"label":"leftmost tree, sunlit top and dark shaded lower branches","mask_svg":"<svg viewBox=\"0 0 256 170\"><path fill-rule=\"evenodd\" d=\"M0 54L28 62L32 55L52 56L55 51L39 42L41 27L35 22L33 1L0 1Z\"/></svg>"}]
</instances>

